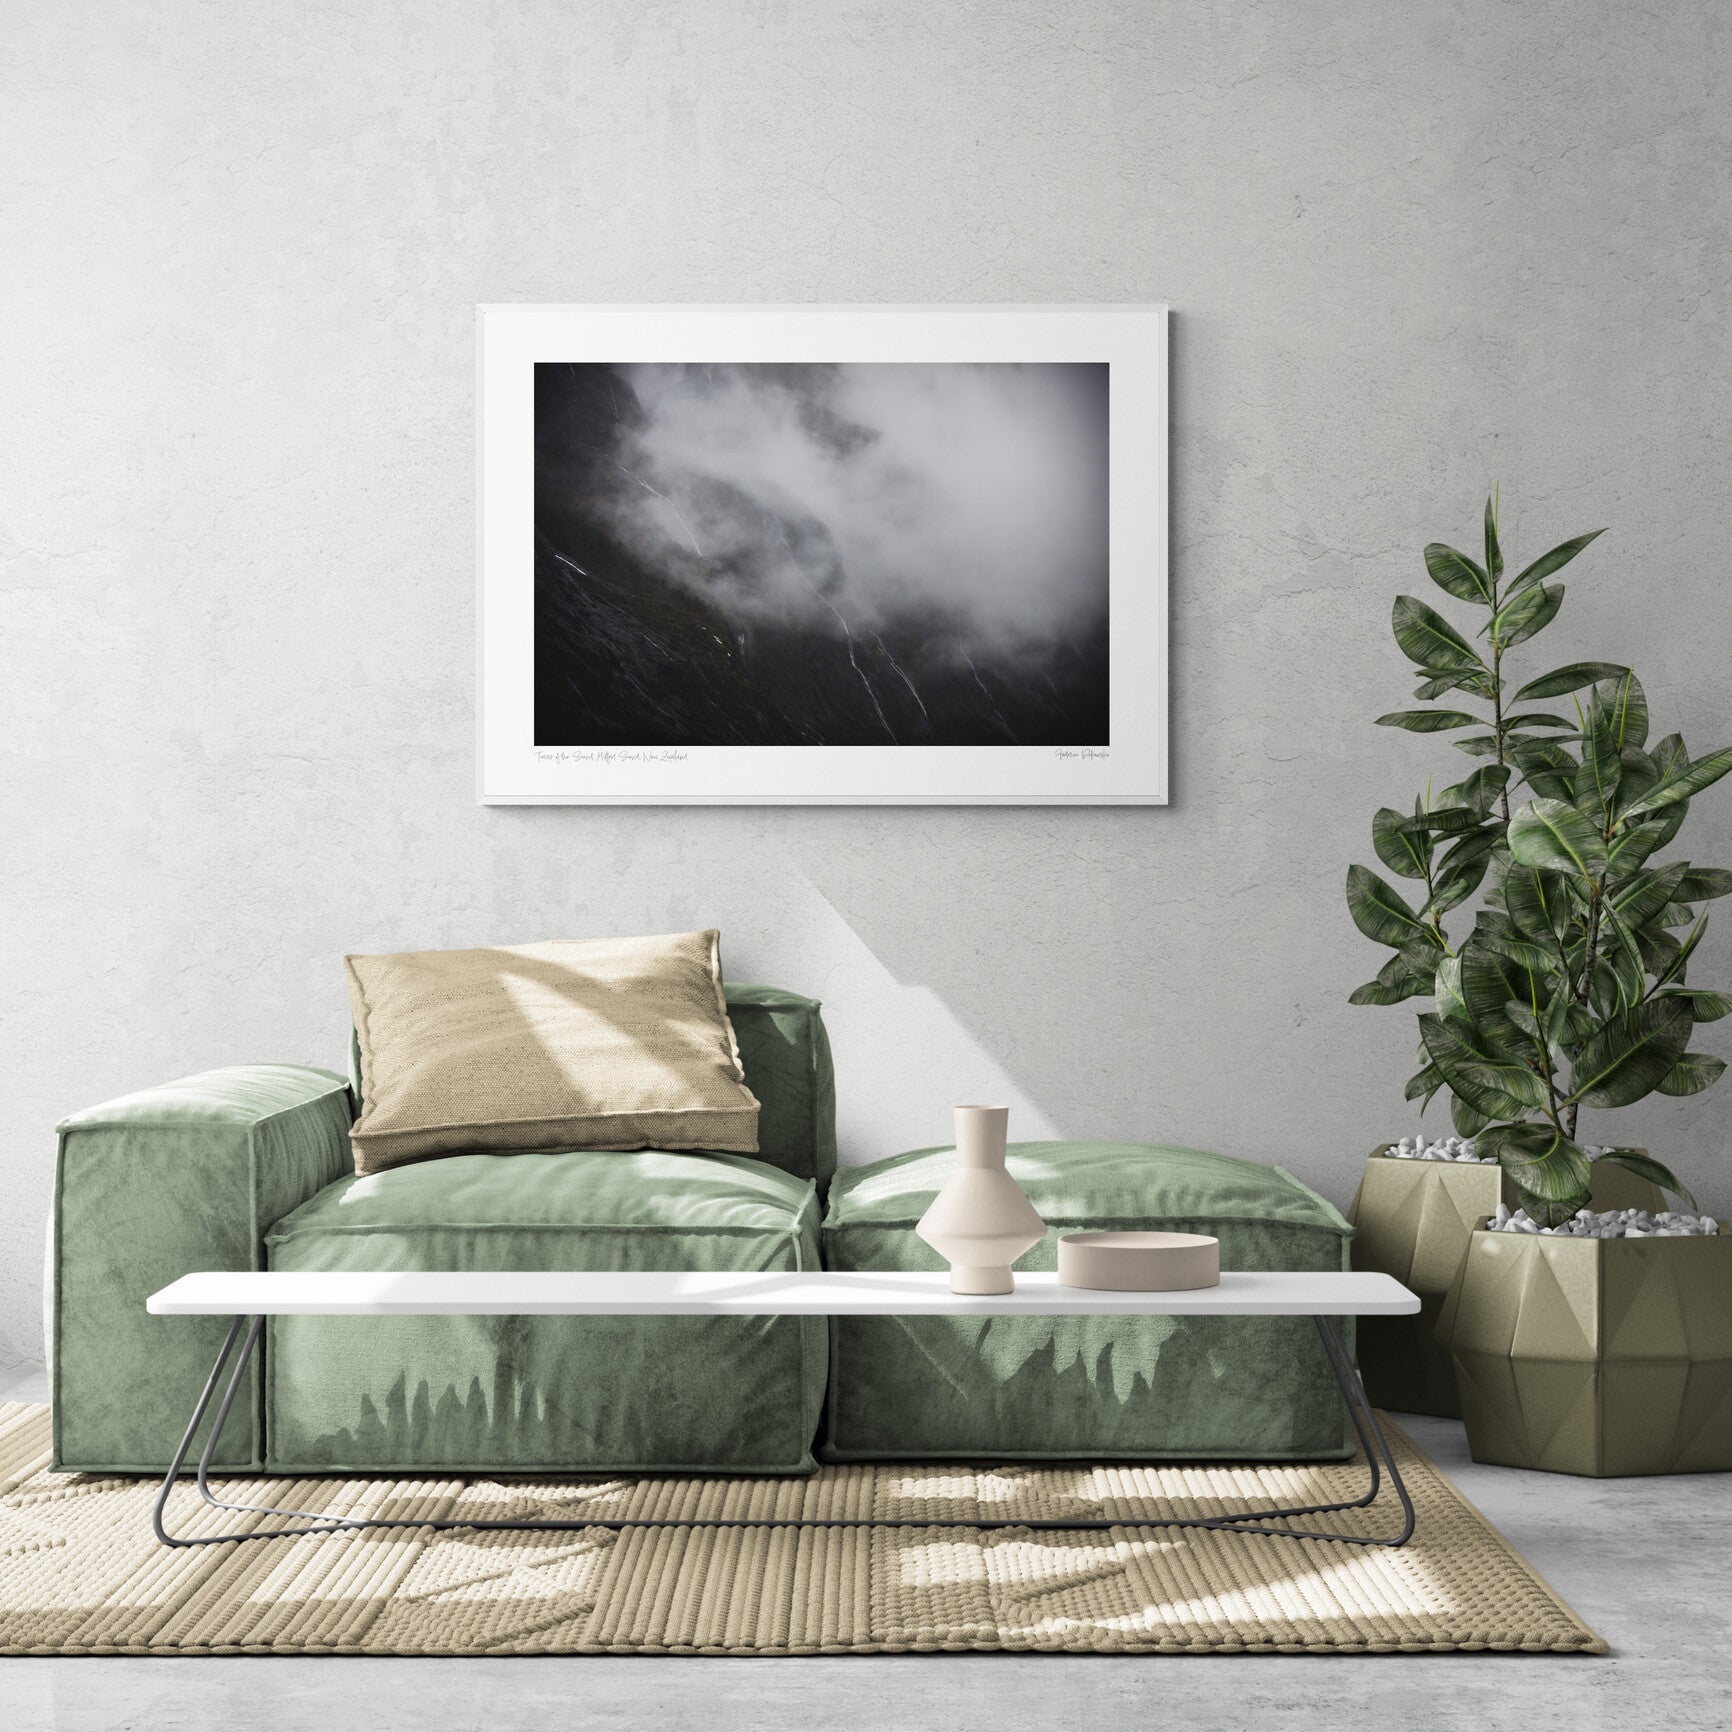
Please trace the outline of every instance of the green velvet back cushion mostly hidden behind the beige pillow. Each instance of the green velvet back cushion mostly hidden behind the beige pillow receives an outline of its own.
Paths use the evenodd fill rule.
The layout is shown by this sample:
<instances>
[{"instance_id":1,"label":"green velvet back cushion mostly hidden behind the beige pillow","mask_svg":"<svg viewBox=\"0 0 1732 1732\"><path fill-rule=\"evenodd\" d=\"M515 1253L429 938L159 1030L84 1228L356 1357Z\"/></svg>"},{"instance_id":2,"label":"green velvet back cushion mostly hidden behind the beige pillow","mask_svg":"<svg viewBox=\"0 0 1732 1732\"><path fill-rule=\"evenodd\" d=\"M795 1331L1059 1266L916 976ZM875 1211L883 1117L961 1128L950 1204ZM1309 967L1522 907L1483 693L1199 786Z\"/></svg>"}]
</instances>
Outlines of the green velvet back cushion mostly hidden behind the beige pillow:
<instances>
[{"instance_id":1,"label":"green velvet back cushion mostly hidden behind the beige pillow","mask_svg":"<svg viewBox=\"0 0 1732 1732\"><path fill-rule=\"evenodd\" d=\"M759 1160L823 1192L837 1171L837 1081L816 998L774 986L722 987L746 1088L759 1100ZM350 1031L348 1082L365 1103L360 1039Z\"/></svg>"}]
</instances>

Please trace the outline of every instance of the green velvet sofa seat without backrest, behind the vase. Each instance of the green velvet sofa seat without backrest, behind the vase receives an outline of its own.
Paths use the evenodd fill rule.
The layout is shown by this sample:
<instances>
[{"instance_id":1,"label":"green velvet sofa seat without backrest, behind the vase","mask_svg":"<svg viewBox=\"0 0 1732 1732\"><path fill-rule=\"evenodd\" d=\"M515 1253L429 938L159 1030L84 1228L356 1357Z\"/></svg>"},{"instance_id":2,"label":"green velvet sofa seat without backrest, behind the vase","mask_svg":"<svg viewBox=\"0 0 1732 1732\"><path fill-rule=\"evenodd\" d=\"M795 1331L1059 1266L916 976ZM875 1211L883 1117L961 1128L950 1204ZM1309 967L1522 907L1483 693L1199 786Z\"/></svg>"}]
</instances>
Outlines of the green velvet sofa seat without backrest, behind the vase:
<instances>
[{"instance_id":1,"label":"green velvet sofa seat without backrest, behind the vase","mask_svg":"<svg viewBox=\"0 0 1732 1732\"><path fill-rule=\"evenodd\" d=\"M914 1223L949 1148L843 1169L831 1270L942 1270ZM1055 1270L1086 1228L1214 1233L1223 1270L1344 1270L1353 1228L1280 1167L1157 1143L1018 1143L1046 1221L1018 1270ZM830 1460L1323 1460L1353 1453L1308 1318L831 1318Z\"/></svg>"}]
</instances>

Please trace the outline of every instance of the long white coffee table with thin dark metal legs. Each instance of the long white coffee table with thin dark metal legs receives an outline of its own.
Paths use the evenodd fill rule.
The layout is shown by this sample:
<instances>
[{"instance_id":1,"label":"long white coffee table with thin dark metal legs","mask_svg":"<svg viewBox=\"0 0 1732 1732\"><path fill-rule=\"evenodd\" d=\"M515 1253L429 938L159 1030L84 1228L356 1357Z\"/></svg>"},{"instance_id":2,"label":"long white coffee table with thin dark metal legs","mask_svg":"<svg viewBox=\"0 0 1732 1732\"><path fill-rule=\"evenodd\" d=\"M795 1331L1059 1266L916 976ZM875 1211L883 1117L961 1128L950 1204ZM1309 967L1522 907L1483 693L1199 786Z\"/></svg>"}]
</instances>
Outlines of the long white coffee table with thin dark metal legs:
<instances>
[{"instance_id":1,"label":"long white coffee table with thin dark metal legs","mask_svg":"<svg viewBox=\"0 0 1732 1732\"><path fill-rule=\"evenodd\" d=\"M1389 1275L1373 1273L1223 1273L1219 1287L1188 1292L1096 1292L1062 1287L1057 1275L1017 1275L1017 1290L992 1297L953 1294L944 1275L876 1273L563 1273L563 1271L249 1271L216 1270L182 1275L151 1294L156 1316L232 1316L222 1353L163 1479L152 1510L156 1536L165 1545L229 1545L241 1540L279 1540L310 1533L355 1533L364 1528L1034 1528L1088 1531L1107 1528L1216 1528L1230 1533L1287 1540L1337 1540L1344 1545L1405 1545L1413 1535L1413 1500L1396 1467L1394 1453L1365 1396L1335 1323L1341 1316L1410 1316L1419 1299ZM934 1521L925 1517L622 1517L584 1521L386 1521L326 1517L308 1510L227 1503L210 1490L211 1457L222 1436L258 1346L267 1316L1309 1316L1323 1341L1347 1417L1370 1464L1370 1490L1351 1502L1257 1509L1238 1516L1138 1517L1098 1521ZM210 1410L223 1368L234 1356L229 1386L216 1420L199 1453L199 1496L213 1509L284 1517L298 1528L265 1528L237 1535L180 1538L163 1526L168 1495ZM1335 1510L1365 1509L1379 1495L1382 1474L1401 1503L1401 1531L1393 1538L1320 1533L1257 1526ZM656 1476L662 1477L662 1476Z\"/></svg>"}]
</instances>

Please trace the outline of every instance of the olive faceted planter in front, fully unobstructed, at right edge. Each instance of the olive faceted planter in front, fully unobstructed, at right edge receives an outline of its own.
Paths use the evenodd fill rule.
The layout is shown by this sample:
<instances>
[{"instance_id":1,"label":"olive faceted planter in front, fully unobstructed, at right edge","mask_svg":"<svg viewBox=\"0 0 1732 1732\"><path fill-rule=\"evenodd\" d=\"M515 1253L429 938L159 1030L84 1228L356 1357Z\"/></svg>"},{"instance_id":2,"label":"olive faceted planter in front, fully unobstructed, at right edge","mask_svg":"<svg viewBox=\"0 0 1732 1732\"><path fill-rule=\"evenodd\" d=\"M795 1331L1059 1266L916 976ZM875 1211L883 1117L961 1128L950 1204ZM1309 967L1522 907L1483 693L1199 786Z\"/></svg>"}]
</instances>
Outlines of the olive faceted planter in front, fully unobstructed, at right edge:
<instances>
[{"instance_id":1,"label":"olive faceted planter in front, fully unobstructed, at right edge","mask_svg":"<svg viewBox=\"0 0 1732 1732\"><path fill-rule=\"evenodd\" d=\"M1476 1231L1438 1325L1476 1462L1732 1469L1732 1233Z\"/></svg>"}]
</instances>

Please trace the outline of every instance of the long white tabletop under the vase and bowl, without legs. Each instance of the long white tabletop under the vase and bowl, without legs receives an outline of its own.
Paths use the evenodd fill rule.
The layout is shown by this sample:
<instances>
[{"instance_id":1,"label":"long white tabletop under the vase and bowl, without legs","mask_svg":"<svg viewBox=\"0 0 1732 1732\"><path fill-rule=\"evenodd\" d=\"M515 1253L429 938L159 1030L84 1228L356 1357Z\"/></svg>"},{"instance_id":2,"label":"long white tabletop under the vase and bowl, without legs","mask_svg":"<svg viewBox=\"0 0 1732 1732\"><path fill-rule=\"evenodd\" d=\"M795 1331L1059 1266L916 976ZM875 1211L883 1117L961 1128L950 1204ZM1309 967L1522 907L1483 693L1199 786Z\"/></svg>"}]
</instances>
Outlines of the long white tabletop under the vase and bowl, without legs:
<instances>
[{"instance_id":1,"label":"long white tabletop under the vase and bowl, without legs","mask_svg":"<svg viewBox=\"0 0 1732 1732\"><path fill-rule=\"evenodd\" d=\"M546 1270L369 1273L216 1270L151 1294L156 1316L1405 1316L1419 1299L1393 1275L1221 1275L1186 1292L1060 1287L1017 1275L994 1297L953 1294L946 1275L624 1273Z\"/></svg>"}]
</instances>

